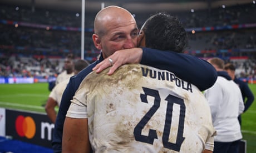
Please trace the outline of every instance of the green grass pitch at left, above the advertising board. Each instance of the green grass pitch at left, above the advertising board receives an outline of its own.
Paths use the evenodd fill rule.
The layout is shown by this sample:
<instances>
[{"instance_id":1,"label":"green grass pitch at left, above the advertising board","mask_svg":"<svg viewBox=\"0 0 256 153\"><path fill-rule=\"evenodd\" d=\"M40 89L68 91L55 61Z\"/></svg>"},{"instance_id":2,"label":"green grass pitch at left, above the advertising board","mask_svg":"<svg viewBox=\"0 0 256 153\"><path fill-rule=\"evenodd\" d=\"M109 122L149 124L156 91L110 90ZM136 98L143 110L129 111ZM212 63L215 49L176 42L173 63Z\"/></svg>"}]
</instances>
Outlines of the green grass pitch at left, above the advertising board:
<instances>
[{"instance_id":1,"label":"green grass pitch at left, above the advertising board","mask_svg":"<svg viewBox=\"0 0 256 153\"><path fill-rule=\"evenodd\" d=\"M0 107L45 113L47 83L0 84Z\"/></svg>"}]
</instances>

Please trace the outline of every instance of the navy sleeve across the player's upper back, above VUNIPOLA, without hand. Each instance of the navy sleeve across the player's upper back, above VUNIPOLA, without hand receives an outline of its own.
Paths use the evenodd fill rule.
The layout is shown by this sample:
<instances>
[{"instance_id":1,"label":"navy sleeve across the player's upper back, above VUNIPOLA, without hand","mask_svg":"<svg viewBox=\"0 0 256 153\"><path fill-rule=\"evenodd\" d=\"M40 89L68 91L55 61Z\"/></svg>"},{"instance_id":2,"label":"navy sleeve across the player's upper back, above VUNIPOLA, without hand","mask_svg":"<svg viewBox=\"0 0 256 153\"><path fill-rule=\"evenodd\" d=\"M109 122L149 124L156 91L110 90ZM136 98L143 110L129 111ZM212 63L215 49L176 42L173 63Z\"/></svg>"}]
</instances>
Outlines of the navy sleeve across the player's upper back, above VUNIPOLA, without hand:
<instances>
[{"instance_id":1,"label":"navy sleeve across the player's upper back, above VUNIPOLA, without hand","mask_svg":"<svg viewBox=\"0 0 256 153\"><path fill-rule=\"evenodd\" d=\"M213 86L218 74L206 60L189 54L142 48L141 64L169 70L179 77L197 86L201 91Z\"/></svg>"}]
</instances>

